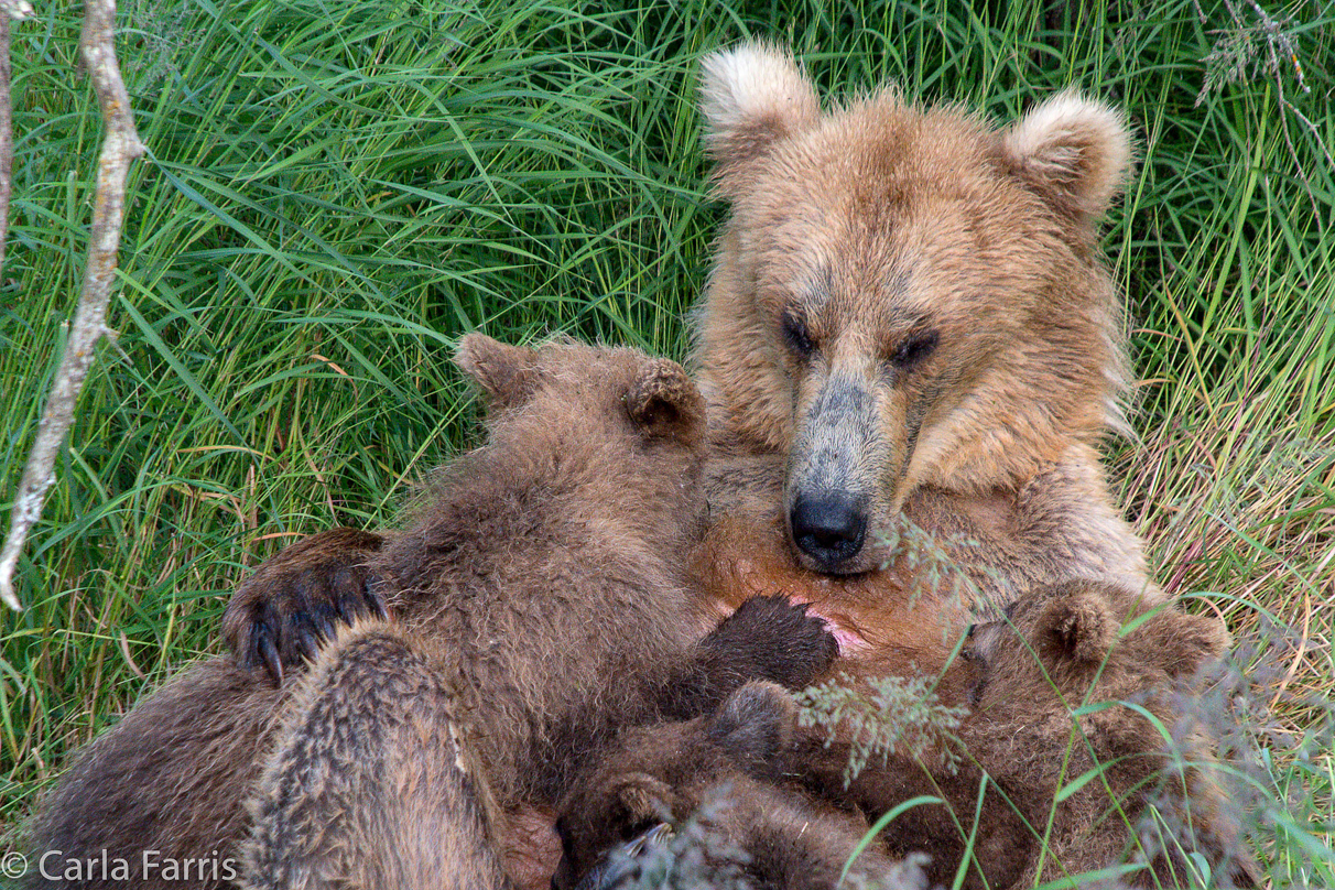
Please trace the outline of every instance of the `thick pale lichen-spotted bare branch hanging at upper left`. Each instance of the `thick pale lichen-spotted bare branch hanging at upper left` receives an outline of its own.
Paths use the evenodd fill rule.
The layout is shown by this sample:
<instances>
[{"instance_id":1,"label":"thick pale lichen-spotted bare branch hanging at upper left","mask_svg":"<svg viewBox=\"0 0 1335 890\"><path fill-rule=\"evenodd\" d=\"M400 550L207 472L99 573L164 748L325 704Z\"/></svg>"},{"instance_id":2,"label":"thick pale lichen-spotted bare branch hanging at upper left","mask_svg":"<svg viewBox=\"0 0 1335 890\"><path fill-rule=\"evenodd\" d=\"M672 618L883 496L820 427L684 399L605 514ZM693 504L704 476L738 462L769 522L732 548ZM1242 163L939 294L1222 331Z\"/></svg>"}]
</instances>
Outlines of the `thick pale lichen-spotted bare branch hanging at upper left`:
<instances>
[{"instance_id":1,"label":"thick pale lichen-spotted bare branch hanging at upper left","mask_svg":"<svg viewBox=\"0 0 1335 890\"><path fill-rule=\"evenodd\" d=\"M0 0L0 8L9 12L23 0ZM12 13L11 13L12 15ZM28 531L41 515L47 488L55 479L56 455L60 443L73 423L75 403L83 388L88 367L92 364L93 346L108 334L107 306L116 276L116 251L120 247L120 227L125 217L125 177L131 163L144 152L135 131L129 109L129 95L120 77L112 36L116 24L115 0L88 0L84 11L83 37L79 41L83 67L92 79L93 92L101 108L105 136L97 159L97 196L93 204L92 228L88 232L88 263L84 268L83 292L69 328L65 354L51 386L37 436L24 467L23 479L15 496L9 519L9 536L0 551L0 600L20 608L13 592L13 570Z\"/></svg>"}]
</instances>

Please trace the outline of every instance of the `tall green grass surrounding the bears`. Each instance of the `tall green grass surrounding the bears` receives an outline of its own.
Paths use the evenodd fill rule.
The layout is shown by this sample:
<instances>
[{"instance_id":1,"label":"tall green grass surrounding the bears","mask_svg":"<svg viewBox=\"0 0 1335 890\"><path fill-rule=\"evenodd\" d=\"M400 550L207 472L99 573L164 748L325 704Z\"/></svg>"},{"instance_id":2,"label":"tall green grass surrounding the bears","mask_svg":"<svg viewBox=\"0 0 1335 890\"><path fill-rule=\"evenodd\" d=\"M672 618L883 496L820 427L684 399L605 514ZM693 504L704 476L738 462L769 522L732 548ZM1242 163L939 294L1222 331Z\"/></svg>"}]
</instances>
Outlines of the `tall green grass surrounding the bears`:
<instances>
[{"instance_id":1,"label":"tall green grass surrounding the bears","mask_svg":"<svg viewBox=\"0 0 1335 890\"><path fill-rule=\"evenodd\" d=\"M29 607L0 615L0 826L152 682L218 650L248 566L331 524L392 522L405 482L471 440L458 335L685 355L722 212L697 61L769 35L840 92L894 79L1004 120L1076 83L1127 108L1140 168L1105 244L1141 440L1111 447L1116 491L1171 591L1219 594L1202 608L1240 638L1263 616L1302 635L1263 690L1262 738L1304 830L1262 843L1286 882L1335 881L1328 849L1303 846L1331 842L1335 765L1295 754L1335 686L1335 17L1271 9L1292 15L1311 92L1280 57L1196 105L1227 32L1251 28L1239 45L1266 56L1251 7L1239 24L1202 5L1204 21L1192 0L1051 16L1004 0L123 3L150 155L120 338L20 563ZM72 73L77 33L65 4L15 27L0 506L85 250L100 123ZM1314 861L1324 871L1300 873Z\"/></svg>"}]
</instances>

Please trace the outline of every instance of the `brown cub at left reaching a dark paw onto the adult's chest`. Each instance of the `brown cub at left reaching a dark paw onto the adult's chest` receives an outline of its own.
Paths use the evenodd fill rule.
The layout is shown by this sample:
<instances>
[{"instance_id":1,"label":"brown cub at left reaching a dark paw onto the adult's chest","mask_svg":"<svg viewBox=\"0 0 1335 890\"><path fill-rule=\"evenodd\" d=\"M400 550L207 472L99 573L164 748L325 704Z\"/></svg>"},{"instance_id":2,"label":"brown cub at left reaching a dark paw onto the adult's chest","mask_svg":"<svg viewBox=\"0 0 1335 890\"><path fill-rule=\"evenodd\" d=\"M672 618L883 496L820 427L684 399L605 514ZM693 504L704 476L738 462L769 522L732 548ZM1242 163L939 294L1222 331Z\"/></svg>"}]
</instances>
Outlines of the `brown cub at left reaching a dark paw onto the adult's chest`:
<instances>
[{"instance_id":1,"label":"brown cub at left reaching a dark paw onto the adult's chest","mask_svg":"<svg viewBox=\"0 0 1335 890\"><path fill-rule=\"evenodd\" d=\"M490 438L367 563L388 619L344 631L280 690L226 658L174 681L57 786L36 849L235 857L236 802L263 763L243 886L545 883L554 859L507 874L503 835L554 807L618 727L829 666L833 638L786 599L709 630L681 560L705 503L702 403L680 366L481 335L458 360Z\"/></svg>"}]
</instances>

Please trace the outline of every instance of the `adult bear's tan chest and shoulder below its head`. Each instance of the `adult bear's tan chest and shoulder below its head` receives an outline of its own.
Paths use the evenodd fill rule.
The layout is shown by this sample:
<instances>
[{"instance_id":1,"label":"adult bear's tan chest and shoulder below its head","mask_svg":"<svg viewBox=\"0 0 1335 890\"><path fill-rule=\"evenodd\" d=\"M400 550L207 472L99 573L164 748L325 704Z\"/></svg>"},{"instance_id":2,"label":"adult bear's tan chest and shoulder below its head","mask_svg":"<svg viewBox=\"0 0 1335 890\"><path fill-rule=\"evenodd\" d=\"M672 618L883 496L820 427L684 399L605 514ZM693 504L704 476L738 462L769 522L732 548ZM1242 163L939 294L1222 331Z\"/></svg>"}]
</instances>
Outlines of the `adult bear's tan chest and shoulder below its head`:
<instances>
[{"instance_id":1,"label":"adult bear's tan chest and shoulder below its head","mask_svg":"<svg viewBox=\"0 0 1335 890\"><path fill-rule=\"evenodd\" d=\"M812 603L846 667L937 674L975 615L1068 575L1116 578L1159 596L1132 571L1133 539L1093 540L1103 523L1121 520L1105 500L1083 499L1101 491L1092 464L1049 467L1009 495L918 488L892 518L884 562L856 575L822 574L794 558L777 508L782 466L764 456L706 463L712 522L692 566L718 614L758 594Z\"/></svg>"}]
</instances>

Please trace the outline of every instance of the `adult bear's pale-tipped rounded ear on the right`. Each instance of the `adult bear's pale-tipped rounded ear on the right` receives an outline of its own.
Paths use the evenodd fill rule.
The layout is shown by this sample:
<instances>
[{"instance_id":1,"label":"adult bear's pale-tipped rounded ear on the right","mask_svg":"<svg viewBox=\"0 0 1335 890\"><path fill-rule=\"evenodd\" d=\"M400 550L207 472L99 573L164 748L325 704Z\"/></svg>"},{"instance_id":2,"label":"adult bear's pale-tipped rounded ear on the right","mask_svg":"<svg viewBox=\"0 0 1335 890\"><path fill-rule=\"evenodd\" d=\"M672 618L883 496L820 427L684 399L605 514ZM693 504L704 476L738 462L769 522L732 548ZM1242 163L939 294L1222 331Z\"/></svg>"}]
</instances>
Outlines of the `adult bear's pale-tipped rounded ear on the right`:
<instances>
[{"instance_id":1,"label":"adult bear's pale-tipped rounded ear on the right","mask_svg":"<svg viewBox=\"0 0 1335 890\"><path fill-rule=\"evenodd\" d=\"M1121 112L1067 89L1011 127L1003 152L1029 188L1092 226L1127 179L1131 133Z\"/></svg>"}]
</instances>

